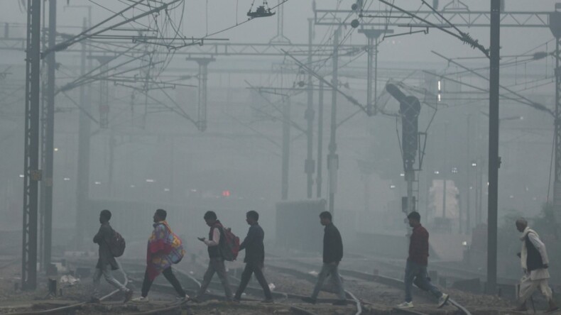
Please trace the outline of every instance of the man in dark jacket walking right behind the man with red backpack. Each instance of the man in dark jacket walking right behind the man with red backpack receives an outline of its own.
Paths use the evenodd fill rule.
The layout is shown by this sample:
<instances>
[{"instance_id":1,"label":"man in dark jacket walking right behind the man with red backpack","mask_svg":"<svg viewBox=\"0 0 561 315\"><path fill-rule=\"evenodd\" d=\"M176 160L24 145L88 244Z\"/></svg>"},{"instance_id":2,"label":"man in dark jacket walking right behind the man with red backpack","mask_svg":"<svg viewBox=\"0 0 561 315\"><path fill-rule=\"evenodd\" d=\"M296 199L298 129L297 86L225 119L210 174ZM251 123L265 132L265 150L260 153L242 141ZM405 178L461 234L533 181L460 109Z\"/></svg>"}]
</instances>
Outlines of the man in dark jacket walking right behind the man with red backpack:
<instances>
[{"instance_id":1,"label":"man in dark jacket walking right behind the man with red backpack","mask_svg":"<svg viewBox=\"0 0 561 315\"><path fill-rule=\"evenodd\" d=\"M263 238L265 233L263 228L259 226L259 214L257 211L251 210L246 214L246 222L249 224L249 231L244 241L239 245L239 250L246 250L246 257L244 262L246 267L244 272L241 273L241 281L234 297L234 302L239 302L241 294L247 287L251 274L255 274L257 281L263 288L265 299L263 303L273 303L273 295L269 289L267 280L263 275L263 263L265 262L265 245L263 245Z\"/></svg>"}]
</instances>

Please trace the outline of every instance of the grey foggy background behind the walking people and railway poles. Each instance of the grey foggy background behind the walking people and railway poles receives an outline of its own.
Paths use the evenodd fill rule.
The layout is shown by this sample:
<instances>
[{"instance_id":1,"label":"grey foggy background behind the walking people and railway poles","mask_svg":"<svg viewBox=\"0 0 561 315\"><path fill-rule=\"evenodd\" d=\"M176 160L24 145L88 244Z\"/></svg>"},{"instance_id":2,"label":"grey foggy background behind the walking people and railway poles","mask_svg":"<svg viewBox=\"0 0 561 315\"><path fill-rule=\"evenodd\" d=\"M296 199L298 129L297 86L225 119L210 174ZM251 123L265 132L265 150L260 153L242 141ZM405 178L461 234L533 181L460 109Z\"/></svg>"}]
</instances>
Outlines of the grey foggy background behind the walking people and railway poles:
<instances>
[{"instance_id":1,"label":"grey foggy background behind the walking people and railway poles","mask_svg":"<svg viewBox=\"0 0 561 315\"><path fill-rule=\"evenodd\" d=\"M371 9L383 9L377 1L366 1ZM259 2L256 1L256 5ZM354 1L317 1L317 9L350 9ZM441 6L447 1L440 1ZM487 1L464 1L472 11L488 11ZM58 30L78 33L82 21L88 16L86 8L66 7L58 3ZM195 38L219 31L246 19L251 1L185 1L184 35ZM114 1L77 1L70 5L90 6L93 23L109 16L107 9L116 10L123 4ZM272 0L271 6L276 5ZM396 1L404 9L416 11L418 1ZM506 1L506 11L553 11L555 1ZM104 7L102 7L104 6ZM237 6L237 9L236 9ZM292 43L307 44L307 18L313 15L312 2L289 0L283 4L284 35ZM174 18L182 12L175 9ZM19 1L1 1L0 29L10 23L9 35L25 38L26 11ZM268 43L277 35L277 16L257 18L249 23L214 35L227 38L229 43ZM330 39L333 27L315 26L314 43L324 44L332 50ZM395 28L396 33L408 31ZM489 30L464 29L473 38L489 47ZM349 34L344 44L365 45L363 34L344 28ZM0 33L1 35L1 33ZM555 40L548 28L502 28L501 55L521 55L533 52L552 52ZM72 48L80 49L80 44ZM478 50L469 48L457 38L430 29L427 35L404 35L387 38L378 45L378 94L389 79L403 80L411 87L425 87L423 70L437 74L450 74L464 83L488 89L488 83L469 73L454 74L461 69L430 51L447 57L481 57ZM181 51L181 50L179 50ZM9 74L0 79L0 206L6 214L0 221L4 231L21 231L23 179L23 112L25 87L25 54L23 51L2 50L0 71L9 67ZM197 63L185 60L185 55L175 55L160 78L190 75L182 81L197 85ZM273 244L275 236L275 204L280 201L280 170L282 122L273 104L280 104L276 95L260 96L249 89L255 87L294 87L306 74L297 67L283 68L284 57L216 56L209 64L207 131L200 132L185 118L170 112L153 101L146 101L142 93L127 87L109 84L109 128L99 128L92 123L91 155L89 166L89 200L92 211L88 214L89 226L85 237L89 240L97 231L99 210L110 209L113 226L131 241L142 245L151 232L151 215L157 208L168 210L168 221L175 233L184 235L187 246L195 236L205 236L207 227L202 219L207 210L217 211L226 226L232 226L239 236L246 231L245 212L255 209L261 214L260 223L266 231L266 243ZM305 57L299 57L305 60ZM532 62L524 57L504 57L501 62L515 62L501 68L501 84L516 89L529 99L554 109L555 77L552 56ZM526 58L527 59L527 58ZM521 60L521 62L518 62ZM486 58L457 60L467 67L488 67ZM60 68L57 86L80 75L80 53L57 53ZM92 62L97 65L96 61ZM342 56L339 65L339 82L342 88L362 104L366 103L366 55ZM320 72L331 71L327 61ZM417 70L417 71L413 71ZM413 74L412 74L413 73ZM485 74L486 72L480 72ZM317 80L315 80L317 83ZM447 179L457 187L458 196L450 198L453 217L460 208L472 211L472 227L476 225L475 190L482 190L481 220L486 221L486 176L489 108L487 94L472 94L456 99L454 92L473 91L465 86L446 82L442 101L437 106L435 118L427 130L427 145L423 171L419 173L418 210L423 223L430 226L438 216L442 198L438 185ZM430 88L430 87L428 87ZM435 88L435 87L434 87ZM98 116L97 106L104 93L99 82L88 84L87 94L92 102L92 115ZM169 106L173 101L190 116L196 116L197 88L176 87L153 95ZM447 94L447 92L450 92ZM268 101L266 99L268 99ZM53 244L60 249L72 248L72 232L76 221L77 130L80 111L72 104L79 100L78 89L58 95L55 114L55 166L53 201ZM173 99L173 101L172 101ZM398 103L381 96L381 104L396 112ZM317 161L317 92L314 96L314 159ZM327 145L329 142L329 108L331 92L324 97L323 142L323 193L327 196ZM145 105L148 104L148 107ZM290 97L290 118L305 128L306 93ZM257 111L256 109L260 109ZM338 121L352 116L356 106L339 96ZM434 111L423 106L419 129L425 131ZM275 118L276 117L276 118ZM499 155L499 218L523 214L540 214L543 204L552 198L549 185L552 156L552 116L516 102L501 100L501 135ZM337 128L337 153L339 154L339 182L335 197L335 222L342 230L345 241L356 238L355 232L387 231L405 233L401 197L405 196L402 177L403 163L398 143L401 125L396 118L378 115L367 117L356 114ZM289 200L306 199L305 135L291 129ZM371 169L361 168L364 162ZM476 164L476 166L472 166ZM315 177L316 175L314 175ZM440 182L439 182L440 181ZM432 191L430 188L432 188ZM452 186L450 186L452 187ZM449 189L450 189L449 187ZM315 191L315 187L314 187ZM432 196L432 197L431 197ZM468 201L469 200L469 201ZM454 210L455 209L455 210ZM465 215L465 214L464 214ZM465 218L462 219L465 221ZM499 219L501 220L501 219ZM464 222L463 221L463 222ZM317 223L319 225L319 222ZM465 222L462 223L465 225ZM453 232L459 232L454 221ZM123 232L124 231L124 232ZM472 231L462 231L459 241L468 241ZM70 235L70 238L69 238ZM458 241L458 242L459 242ZM91 248L94 244L86 243ZM459 246L459 243L457 243ZM200 250L200 244L196 244ZM194 247L195 248L195 247ZM319 248L318 248L319 250Z\"/></svg>"}]
</instances>

